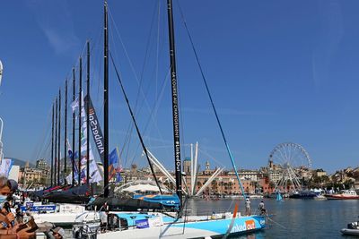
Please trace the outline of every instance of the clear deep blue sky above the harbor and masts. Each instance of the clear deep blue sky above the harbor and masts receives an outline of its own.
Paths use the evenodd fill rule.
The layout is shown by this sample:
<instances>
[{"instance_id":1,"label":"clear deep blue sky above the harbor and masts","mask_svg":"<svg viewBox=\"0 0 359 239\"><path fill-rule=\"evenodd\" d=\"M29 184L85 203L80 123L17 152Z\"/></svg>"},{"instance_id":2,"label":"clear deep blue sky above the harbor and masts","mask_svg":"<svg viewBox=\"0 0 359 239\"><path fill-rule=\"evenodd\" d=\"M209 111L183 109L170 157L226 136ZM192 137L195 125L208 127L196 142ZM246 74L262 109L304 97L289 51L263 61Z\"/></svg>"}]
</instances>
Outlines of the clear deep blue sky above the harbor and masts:
<instances>
[{"instance_id":1,"label":"clear deep blue sky above the harbor and masts","mask_svg":"<svg viewBox=\"0 0 359 239\"><path fill-rule=\"evenodd\" d=\"M168 39L161 2L157 16L157 1L109 0L110 51L131 104L135 107L138 100L136 116L146 144L172 168ZM187 145L199 141L202 166L208 159L214 166L229 168L175 3L181 135ZM183 0L180 7L238 166L267 165L270 151L285 141L307 149L314 168L333 172L357 166L357 1ZM92 39L92 101L102 117L102 3L5 1L0 22L4 155L48 158L50 109L87 38ZM141 75L142 93L137 98ZM113 68L109 107L110 147L126 145L126 166L145 165L136 137L125 143L130 119ZM188 155L186 146L182 156Z\"/></svg>"}]
</instances>

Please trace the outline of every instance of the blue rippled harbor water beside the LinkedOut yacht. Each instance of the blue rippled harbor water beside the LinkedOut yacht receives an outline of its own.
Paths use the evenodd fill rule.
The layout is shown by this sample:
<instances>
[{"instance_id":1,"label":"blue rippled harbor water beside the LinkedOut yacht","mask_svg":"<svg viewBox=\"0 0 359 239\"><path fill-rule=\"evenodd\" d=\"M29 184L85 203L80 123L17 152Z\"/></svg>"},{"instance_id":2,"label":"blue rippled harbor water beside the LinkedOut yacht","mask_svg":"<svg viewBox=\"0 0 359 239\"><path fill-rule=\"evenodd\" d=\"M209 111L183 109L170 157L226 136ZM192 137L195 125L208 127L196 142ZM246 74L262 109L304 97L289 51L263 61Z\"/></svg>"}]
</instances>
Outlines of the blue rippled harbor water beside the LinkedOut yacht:
<instances>
[{"instance_id":1,"label":"blue rippled harbor water beside the LinkedOut yacht","mask_svg":"<svg viewBox=\"0 0 359 239\"><path fill-rule=\"evenodd\" d=\"M251 201L251 213L258 213L260 199ZM315 201L287 199L263 199L270 219L267 228L251 235L241 235L231 238L262 239L262 238L354 238L341 235L340 229L353 222L359 215L359 201ZM222 199L217 201L188 200L188 214L212 215L232 211L235 203L239 204L241 214L244 214L244 201ZM71 229L66 229L66 238L71 235ZM68 237L67 237L68 236Z\"/></svg>"}]
</instances>

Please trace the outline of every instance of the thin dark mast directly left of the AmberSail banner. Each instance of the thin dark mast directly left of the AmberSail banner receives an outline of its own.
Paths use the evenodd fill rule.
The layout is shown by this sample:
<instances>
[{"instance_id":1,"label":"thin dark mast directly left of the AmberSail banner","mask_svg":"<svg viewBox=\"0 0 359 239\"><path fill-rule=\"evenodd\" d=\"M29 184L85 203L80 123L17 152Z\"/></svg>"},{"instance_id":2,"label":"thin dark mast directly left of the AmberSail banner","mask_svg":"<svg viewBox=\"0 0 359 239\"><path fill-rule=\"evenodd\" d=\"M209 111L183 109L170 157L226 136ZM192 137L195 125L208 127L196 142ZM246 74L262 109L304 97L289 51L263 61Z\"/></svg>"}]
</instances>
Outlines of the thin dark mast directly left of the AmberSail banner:
<instances>
[{"instance_id":1,"label":"thin dark mast directly left of the AmberSail banner","mask_svg":"<svg viewBox=\"0 0 359 239\"><path fill-rule=\"evenodd\" d=\"M87 41L87 101L86 101L86 183L90 184L90 113L89 113L89 104L90 104L90 41Z\"/></svg>"}]
</instances>

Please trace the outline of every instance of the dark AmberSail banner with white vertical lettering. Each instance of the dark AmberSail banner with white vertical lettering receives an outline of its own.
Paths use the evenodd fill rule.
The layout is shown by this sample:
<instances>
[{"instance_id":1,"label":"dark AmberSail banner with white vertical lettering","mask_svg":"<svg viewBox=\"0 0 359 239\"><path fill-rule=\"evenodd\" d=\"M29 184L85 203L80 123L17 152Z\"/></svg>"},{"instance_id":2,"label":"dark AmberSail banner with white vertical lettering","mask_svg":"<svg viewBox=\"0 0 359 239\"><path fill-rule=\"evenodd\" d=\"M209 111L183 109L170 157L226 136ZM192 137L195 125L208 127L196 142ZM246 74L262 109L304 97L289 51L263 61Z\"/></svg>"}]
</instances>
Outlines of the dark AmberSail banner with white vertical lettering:
<instances>
[{"instance_id":1,"label":"dark AmberSail banner with white vertical lettering","mask_svg":"<svg viewBox=\"0 0 359 239\"><path fill-rule=\"evenodd\" d=\"M99 120L98 120L96 112L95 112L95 108L93 107L92 100L89 96L86 96L84 98L84 102L87 103L87 101L89 102L89 119L90 119L90 126L91 126L93 141L95 141L96 148L99 151L100 159L103 164L103 158L104 158L103 153L105 151L103 134L101 131Z\"/></svg>"}]
</instances>

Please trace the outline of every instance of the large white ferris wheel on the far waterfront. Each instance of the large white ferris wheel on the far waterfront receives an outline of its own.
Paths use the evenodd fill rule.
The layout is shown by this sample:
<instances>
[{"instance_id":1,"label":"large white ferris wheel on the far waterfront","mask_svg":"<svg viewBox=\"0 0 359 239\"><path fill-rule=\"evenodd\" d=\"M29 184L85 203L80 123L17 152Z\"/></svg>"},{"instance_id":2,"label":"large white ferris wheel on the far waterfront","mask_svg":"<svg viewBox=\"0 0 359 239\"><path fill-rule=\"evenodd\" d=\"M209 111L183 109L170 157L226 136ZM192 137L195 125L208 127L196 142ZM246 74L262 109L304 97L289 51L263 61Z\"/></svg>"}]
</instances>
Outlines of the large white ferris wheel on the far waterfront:
<instances>
[{"instance_id":1,"label":"large white ferris wheel on the far waterfront","mask_svg":"<svg viewBox=\"0 0 359 239\"><path fill-rule=\"evenodd\" d=\"M302 171L311 169L311 158L299 144L285 142L276 145L270 152L269 168L276 172L275 190L302 190Z\"/></svg>"}]
</instances>

